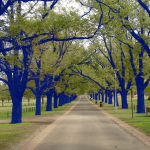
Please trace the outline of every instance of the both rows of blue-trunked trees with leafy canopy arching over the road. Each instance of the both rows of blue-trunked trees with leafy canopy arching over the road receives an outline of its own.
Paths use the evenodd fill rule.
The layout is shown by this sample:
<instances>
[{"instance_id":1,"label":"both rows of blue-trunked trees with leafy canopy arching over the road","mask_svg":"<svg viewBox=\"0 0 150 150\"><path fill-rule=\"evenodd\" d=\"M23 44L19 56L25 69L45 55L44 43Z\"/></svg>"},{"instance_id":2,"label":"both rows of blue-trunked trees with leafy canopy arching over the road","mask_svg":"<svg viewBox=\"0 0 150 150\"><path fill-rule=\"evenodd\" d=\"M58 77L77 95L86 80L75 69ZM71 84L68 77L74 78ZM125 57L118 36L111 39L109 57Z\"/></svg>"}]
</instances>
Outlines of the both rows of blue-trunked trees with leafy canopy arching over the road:
<instances>
[{"instance_id":1,"label":"both rows of blue-trunked trees with leafy canopy arching over the road","mask_svg":"<svg viewBox=\"0 0 150 150\"><path fill-rule=\"evenodd\" d=\"M92 87L94 82L97 92L112 95L116 68L122 108L127 108L126 89L135 83L141 113L149 83L149 2L76 0L89 9L79 16L69 9L61 14L53 11L58 1L44 1L38 9L38 2L28 0L0 2L0 79L9 87L12 123L21 122L26 88L35 94L36 115L40 115L42 94L51 99L51 93L58 96L67 89L77 93L71 82L75 75L81 85ZM26 4L29 9L24 10ZM82 39L91 39L88 50Z\"/></svg>"}]
</instances>

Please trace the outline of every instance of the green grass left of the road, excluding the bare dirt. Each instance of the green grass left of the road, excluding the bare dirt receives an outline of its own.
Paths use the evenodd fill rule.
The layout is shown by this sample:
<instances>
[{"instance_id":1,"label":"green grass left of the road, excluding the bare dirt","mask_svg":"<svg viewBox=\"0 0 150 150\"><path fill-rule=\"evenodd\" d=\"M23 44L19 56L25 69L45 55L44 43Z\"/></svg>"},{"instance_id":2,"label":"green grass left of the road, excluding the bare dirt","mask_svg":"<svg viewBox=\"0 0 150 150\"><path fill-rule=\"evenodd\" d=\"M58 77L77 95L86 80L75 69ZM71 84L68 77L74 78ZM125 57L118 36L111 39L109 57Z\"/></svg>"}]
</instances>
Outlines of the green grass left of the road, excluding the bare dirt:
<instances>
[{"instance_id":1,"label":"green grass left of the road, excluding the bare dirt","mask_svg":"<svg viewBox=\"0 0 150 150\"><path fill-rule=\"evenodd\" d=\"M77 101L76 99L75 101ZM63 114L67 111L74 103L67 103L58 108L53 108L53 111L45 111L45 107L42 108L41 114L45 115L54 115L54 114ZM2 107L1 107L2 108ZM7 112L8 107L4 107L3 111L0 108L0 119L3 118L3 111ZM10 109L11 107L9 107ZM4 114L4 113L3 113ZM35 112L26 112L23 113L23 117L31 117L35 116ZM38 125L36 123L31 122L23 122L21 124L9 124L9 123L1 123L0 124L0 150L7 150L11 145L14 145L21 140L27 138L32 134L33 131L37 129Z\"/></svg>"}]
</instances>

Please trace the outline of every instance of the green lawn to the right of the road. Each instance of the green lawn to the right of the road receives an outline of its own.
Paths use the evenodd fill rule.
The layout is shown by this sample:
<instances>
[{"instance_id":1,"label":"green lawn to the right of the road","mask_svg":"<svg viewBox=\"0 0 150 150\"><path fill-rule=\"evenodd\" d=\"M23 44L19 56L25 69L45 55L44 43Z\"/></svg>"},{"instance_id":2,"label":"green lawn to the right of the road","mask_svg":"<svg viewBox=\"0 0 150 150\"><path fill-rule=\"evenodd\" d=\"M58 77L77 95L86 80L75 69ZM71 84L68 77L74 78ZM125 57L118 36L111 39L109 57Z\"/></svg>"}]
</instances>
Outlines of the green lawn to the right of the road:
<instances>
[{"instance_id":1,"label":"green lawn to the right of the road","mask_svg":"<svg viewBox=\"0 0 150 150\"><path fill-rule=\"evenodd\" d=\"M118 99L119 104L121 104L121 99ZM93 103L95 101L93 100ZM143 133L150 136L150 113L146 116L146 113L136 113L137 99L133 98L133 104L135 105L135 110L133 109L133 119L131 110L131 98L128 98L128 109L122 109L121 106L117 107L117 112L115 111L114 104L105 103L102 107L103 110L110 113L111 115L119 118L120 120L126 122L127 124L138 128ZM97 104L99 105L99 103ZM150 100L145 99L145 106L150 106ZM134 107L133 107L134 108Z\"/></svg>"}]
</instances>

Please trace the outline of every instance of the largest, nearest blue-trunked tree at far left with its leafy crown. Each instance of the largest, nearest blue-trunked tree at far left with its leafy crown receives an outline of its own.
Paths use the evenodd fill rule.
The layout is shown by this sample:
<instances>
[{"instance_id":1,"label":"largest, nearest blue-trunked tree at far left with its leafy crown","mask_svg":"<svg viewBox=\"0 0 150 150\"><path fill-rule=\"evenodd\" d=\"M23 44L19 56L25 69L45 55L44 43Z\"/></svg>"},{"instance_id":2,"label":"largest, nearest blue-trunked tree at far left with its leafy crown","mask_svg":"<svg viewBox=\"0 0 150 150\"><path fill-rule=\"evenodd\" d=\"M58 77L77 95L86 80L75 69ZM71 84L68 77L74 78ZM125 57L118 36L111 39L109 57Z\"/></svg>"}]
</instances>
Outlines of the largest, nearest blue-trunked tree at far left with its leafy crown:
<instances>
[{"instance_id":1,"label":"largest, nearest blue-trunked tree at far left with its leafy crown","mask_svg":"<svg viewBox=\"0 0 150 150\"><path fill-rule=\"evenodd\" d=\"M2 68L2 71L5 72L5 74L7 75L8 81L4 79L1 79L1 80L3 80L6 84L8 84L9 90L11 93L11 97L13 101L12 123L21 122L21 112L22 112L21 101L22 101L22 96L26 88L26 84L28 82L29 65L32 60L32 55L34 54L33 46L39 46L48 41L54 41L54 39L56 38L56 32L58 31L63 32L63 30L66 30L67 28L70 28L70 31L72 31L72 34L75 35L78 29L76 28L76 30L73 30L75 29L73 28L74 24L71 24L70 21L72 21L72 23L79 22L80 27L85 28L84 26L85 19L81 21L80 17L77 16L73 12L71 12L72 13L71 16L57 15L59 19L56 20L50 16L50 15L53 15L54 17L54 14L55 14L54 12L51 11L51 13L49 13L49 16L47 16L46 19L43 20L43 17L42 17L41 19L42 22L41 22L40 18L37 20L24 19L23 18L24 16L21 15L21 8L22 8L21 3L18 2L17 14L14 14L13 13L14 8L11 7L11 13L9 15L10 25L9 27L5 27L7 30L3 31L4 34L1 35L1 39L0 39L2 55L3 57L7 57L7 59L2 58L1 68ZM17 17L14 17L14 15L16 15ZM61 22L63 21L62 24L60 24L60 21ZM80 34L85 35L85 33L82 33L82 32L80 32ZM60 35L63 35L63 34L60 34ZM61 38L64 38L64 37L62 36ZM71 39L70 37L67 37L64 41L68 41L70 39ZM58 38L56 38L55 41L56 40L58 40ZM6 44L8 45L7 47L6 47ZM13 52L6 53L6 51L10 51L10 50L14 51L14 53ZM11 58L12 55L8 56L8 54L10 53L14 54L14 58ZM15 61L13 59L15 59ZM11 61L8 62L8 60L11 60ZM11 64L12 62L16 62L16 61L18 62L18 64ZM20 61L23 64L21 64ZM37 65L39 65L38 67L40 69L40 61L37 60L36 63ZM3 66L4 64L5 64L5 67ZM14 70L12 70L13 67L14 67ZM15 80L15 82L13 82L13 80ZM39 79L36 79L37 87L39 86L38 80ZM36 88L36 89L39 89L39 88ZM20 91L19 94L18 94L18 91ZM39 92L37 92L37 94L39 94ZM37 97L40 97L40 96L37 96ZM40 99L38 101L40 101ZM18 108L18 110L16 108ZM40 104L39 104L39 108L40 108ZM37 107L37 111L38 110L40 111L40 109L38 109Z\"/></svg>"}]
</instances>

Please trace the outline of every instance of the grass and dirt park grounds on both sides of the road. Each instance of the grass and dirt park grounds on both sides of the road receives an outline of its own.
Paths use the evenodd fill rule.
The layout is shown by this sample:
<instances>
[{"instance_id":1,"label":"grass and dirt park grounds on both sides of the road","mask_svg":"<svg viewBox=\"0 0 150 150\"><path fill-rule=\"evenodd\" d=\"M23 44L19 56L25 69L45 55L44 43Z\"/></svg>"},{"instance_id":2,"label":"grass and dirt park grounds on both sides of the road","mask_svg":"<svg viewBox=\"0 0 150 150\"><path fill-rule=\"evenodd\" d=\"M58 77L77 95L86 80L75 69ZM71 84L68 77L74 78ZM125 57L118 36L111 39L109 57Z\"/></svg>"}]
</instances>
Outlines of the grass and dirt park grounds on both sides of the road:
<instances>
[{"instance_id":1,"label":"grass and dirt park grounds on both sides of the road","mask_svg":"<svg viewBox=\"0 0 150 150\"><path fill-rule=\"evenodd\" d=\"M22 120L21 124L10 124L12 103L5 101L4 107L0 105L0 150L16 150L24 143L30 141L34 136L40 133L47 125L54 122L59 116L65 113L69 108L75 104L76 101L65 104L64 106L53 108L53 111L46 112L46 99L42 104L41 115L35 116L35 100L30 101L28 105L27 100L22 103ZM137 98L132 98L133 101L133 118L131 109L131 97L128 96L128 109L121 108L121 99L118 99L119 107L115 111L114 104L103 103L102 109L114 117L122 120L128 125L140 130L150 137L150 113L137 114ZM95 100L92 100L95 103ZM100 100L97 100L96 105L100 107ZM150 106L150 100L145 97L145 107Z\"/></svg>"}]
</instances>

